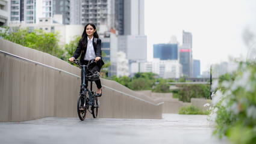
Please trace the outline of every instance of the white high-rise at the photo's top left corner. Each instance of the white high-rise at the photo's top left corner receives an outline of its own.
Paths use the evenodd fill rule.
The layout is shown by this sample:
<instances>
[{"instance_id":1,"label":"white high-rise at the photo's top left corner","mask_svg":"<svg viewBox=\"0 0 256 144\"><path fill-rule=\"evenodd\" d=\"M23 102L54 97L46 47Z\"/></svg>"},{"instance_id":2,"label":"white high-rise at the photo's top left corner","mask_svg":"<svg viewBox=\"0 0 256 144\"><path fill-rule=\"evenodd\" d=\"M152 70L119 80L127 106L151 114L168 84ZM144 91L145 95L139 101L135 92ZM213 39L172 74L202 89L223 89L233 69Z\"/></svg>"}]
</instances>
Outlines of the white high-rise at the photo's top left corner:
<instances>
[{"instance_id":1,"label":"white high-rise at the photo's top left corner","mask_svg":"<svg viewBox=\"0 0 256 144\"><path fill-rule=\"evenodd\" d=\"M0 0L0 26L6 26L8 22L8 2Z\"/></svg>"}]
</instances>

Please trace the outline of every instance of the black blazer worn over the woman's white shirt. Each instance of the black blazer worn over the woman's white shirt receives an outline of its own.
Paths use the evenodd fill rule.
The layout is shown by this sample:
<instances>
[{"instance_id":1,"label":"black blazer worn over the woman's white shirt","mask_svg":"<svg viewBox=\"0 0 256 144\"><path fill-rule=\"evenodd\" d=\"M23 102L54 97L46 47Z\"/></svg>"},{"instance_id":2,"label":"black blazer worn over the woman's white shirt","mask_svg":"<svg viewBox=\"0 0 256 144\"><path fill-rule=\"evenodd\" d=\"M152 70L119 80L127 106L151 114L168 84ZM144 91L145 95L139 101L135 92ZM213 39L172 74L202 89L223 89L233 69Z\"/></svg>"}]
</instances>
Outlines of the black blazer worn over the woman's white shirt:
<instances>
[{"instance_id":1,"label":"black blazer worn over the woman's white shirt","mask_svg":"<svg viewBox=\"0 0 256 144\"><path fill-rule=\"evenodd\" d=\"M87 46L87 38L86 38L86 46ZM97 44L96 44L93 37L93 49L96 57L97 56L101 57L101 59L97 62L98 67L101 68L104 65L104 62L102 61L102 56L101 56L101 39L97 38ZM86 56L86 50L87 50L87 47L84 50L82 50L82 38L81 38L78 42L78 46L76 47L75 53L73 54L72 57L77 59L82 53L80 62L81 64L85 64L84 56Z\"/></svg>"}]
</instances>

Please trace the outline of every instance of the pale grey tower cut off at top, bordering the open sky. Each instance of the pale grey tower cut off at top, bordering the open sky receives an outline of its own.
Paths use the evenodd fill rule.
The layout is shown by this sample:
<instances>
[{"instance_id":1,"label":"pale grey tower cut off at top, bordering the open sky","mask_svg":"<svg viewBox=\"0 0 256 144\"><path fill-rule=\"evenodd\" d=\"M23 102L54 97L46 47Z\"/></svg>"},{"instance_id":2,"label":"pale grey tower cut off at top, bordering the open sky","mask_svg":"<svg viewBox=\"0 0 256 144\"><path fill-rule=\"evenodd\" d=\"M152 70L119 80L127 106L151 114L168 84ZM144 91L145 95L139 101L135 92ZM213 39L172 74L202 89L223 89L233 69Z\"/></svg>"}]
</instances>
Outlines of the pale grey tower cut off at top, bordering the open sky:
<instances>
[{"instance_id":1,"label":"pale grey tower cut off at top, bordering the open sky","mask_svg":"<svg viewBox=\"0 0 256 144\"><path fill-rule=\"evenodd\" d=\"M144 0L125 0L123 35L144 35Z\"/></svg>"}]
</instances>

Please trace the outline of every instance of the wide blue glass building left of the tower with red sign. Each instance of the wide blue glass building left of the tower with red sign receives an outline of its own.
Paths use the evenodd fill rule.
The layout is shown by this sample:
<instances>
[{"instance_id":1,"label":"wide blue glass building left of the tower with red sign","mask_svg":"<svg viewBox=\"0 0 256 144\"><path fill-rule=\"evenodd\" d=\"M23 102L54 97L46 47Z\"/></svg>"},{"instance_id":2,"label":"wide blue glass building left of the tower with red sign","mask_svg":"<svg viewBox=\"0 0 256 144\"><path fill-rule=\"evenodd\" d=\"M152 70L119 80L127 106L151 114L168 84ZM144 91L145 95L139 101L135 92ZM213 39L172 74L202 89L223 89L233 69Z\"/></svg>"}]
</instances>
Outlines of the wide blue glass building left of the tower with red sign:
<instances>
[{"instance_id":1,"label":"wide blue glass building left of the tower with red sign","mask_svg":"<svg viewBox=\"0 0 256 144\"><path fill-rule=\"evenodd\" d=\"M154 44L154 58L178 60L178 44Z\"/></svg>"}]
</instances>

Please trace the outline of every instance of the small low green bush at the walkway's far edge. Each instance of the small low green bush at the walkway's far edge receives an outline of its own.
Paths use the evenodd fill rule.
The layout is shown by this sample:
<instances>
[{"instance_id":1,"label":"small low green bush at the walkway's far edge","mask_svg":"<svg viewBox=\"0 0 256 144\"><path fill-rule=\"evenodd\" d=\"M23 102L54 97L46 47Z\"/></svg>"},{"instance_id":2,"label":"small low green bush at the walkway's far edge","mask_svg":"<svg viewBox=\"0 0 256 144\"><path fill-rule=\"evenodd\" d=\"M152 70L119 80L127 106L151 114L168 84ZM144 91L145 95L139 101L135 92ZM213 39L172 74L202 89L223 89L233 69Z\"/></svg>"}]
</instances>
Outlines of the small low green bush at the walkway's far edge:
<instances>
[{"instance_id":1,"label":"small low green bush at the walkway's far edge","mask_svg":"<svg viewBox=\"0 0 256 144\"><path fill-rule=\"evenodd\" d=\"M202 110L200 107L193 106L190 104L189 106L180 107L179 114L180 115L208 115L209 111Z\"/></svg>"}]
</instances>

